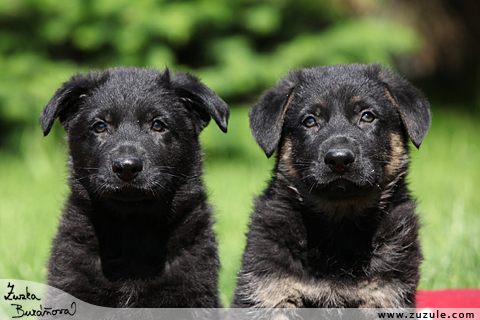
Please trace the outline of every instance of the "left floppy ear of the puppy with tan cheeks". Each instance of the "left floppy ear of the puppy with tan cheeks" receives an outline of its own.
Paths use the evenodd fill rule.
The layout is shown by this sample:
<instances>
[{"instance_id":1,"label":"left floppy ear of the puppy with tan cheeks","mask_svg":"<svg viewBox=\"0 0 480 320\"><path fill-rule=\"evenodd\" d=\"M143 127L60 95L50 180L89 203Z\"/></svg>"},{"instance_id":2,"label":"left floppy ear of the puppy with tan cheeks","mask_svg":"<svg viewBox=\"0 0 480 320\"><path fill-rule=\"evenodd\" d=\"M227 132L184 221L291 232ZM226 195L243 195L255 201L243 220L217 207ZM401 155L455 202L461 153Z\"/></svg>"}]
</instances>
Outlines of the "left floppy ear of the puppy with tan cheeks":
<instances>
[{"instance_id":1,"label":"left floppy ear of the puppy with tan cheeks","mask_svg":"<svg viewBox=\"0 0 480 320\"><path fill-rule=\"evenodd\" d=\"M253 137L269 158L280 142L285 114L294 99L299 81L299 72L291 72L275 88L265 92L249 112Z\"/></svg>"}]
</instances>

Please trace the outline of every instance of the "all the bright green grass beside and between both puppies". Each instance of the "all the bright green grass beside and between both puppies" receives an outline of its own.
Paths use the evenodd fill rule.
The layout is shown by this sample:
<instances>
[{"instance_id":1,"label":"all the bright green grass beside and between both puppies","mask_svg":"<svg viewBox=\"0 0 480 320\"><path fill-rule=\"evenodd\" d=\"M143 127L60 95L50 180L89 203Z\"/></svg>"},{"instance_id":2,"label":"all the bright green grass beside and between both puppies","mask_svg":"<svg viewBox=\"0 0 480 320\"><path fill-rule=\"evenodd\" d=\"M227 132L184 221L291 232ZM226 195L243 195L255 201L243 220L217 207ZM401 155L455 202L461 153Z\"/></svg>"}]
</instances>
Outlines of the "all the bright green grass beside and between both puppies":
<instances>
[{"instance_id":1,"label":"all the bright green grass beside and between both puppies","mask_svg":"<svg viewBox=\"0 0 480 320\"><path fill-rule=\"evenodd\" d=\"M423 223L421 288L480 286L480 119L434 110L409 175ZM248 129L247 109L232 110L228 134L212 122L202 134L204 180L215 208L221 299L228 305L253 198L266 186L267 160ZM40 128L24 133L21 155L0 154L0 278L44 282L65 185L65 149Z\"/></svg>"}]
</instances>

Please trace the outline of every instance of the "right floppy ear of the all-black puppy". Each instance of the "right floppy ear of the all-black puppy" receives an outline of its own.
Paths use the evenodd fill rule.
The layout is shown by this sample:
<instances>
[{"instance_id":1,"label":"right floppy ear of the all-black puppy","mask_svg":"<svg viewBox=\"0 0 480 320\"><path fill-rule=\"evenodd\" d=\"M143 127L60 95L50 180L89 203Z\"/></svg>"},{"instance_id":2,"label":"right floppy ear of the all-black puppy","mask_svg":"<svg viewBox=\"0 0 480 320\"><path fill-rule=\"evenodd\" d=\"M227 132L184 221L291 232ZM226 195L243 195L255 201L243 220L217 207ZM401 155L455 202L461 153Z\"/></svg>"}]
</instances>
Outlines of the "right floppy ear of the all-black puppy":
<instances>
[{"instance_id":1,"label":"right floppy ear of the all-black puppy","mask_svg":"<svg viewBox=\"0 0 480 320\"><path fill-rule=\"evenodd\" d=\"M175 72L173 79L171 79L168 68L165 69L162 80L182 100L193 106L194 111L198 113L199 131L208 125L211 116L220 129L227 132L230 109L212 89L201 83L194 75L186 72ZM168 82L170 82L170 85L168 85Z\"/></svg>"}]
</instances>

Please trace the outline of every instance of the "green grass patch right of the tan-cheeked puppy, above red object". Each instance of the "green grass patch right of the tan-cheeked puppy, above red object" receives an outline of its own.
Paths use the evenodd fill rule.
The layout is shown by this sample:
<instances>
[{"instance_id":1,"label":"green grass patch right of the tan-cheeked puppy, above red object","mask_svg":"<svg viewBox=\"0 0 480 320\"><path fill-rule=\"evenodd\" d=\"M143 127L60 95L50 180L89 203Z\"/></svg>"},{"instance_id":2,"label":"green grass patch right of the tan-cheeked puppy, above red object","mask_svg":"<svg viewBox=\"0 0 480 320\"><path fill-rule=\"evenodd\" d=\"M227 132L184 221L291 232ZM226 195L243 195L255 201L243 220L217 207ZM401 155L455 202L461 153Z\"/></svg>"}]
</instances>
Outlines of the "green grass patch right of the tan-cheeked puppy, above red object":
<instances>
[{"instance_id":1,"label":"green grass patch right of the tan-cheeked puppy, above red object","mask_svg":"<svg viewBox=\"0 0 480 320\"><path fill-rule=\"evenodd\" d=\"M480 121L436 110L411 187L420 201L421 288L480 287Z\"/></svg>"}]
</instances>

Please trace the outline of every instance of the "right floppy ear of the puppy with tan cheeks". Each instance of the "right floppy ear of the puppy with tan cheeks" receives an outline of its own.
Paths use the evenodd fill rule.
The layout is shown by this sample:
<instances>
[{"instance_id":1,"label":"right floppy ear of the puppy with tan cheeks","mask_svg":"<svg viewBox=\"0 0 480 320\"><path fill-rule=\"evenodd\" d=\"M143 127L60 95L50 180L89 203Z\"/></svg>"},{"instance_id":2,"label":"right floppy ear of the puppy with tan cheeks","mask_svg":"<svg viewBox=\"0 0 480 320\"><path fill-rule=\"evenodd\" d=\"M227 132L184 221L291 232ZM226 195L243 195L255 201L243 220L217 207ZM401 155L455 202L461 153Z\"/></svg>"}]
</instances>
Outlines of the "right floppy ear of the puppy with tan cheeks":
<instances>
[{"instance_id":1,"label":"right floppy ear of the puppy with tan cheeks","mask_svg":"<svg viewBox=\"0 0 480 320\"><path fill-rule=\"evenodd\" d=\"M415 147L420 144L430 128L430 105L422 94L390 69L380 71L380 80L385 85L385 94L398 109L403 125Z\"/></svg>"}]
</instances>

